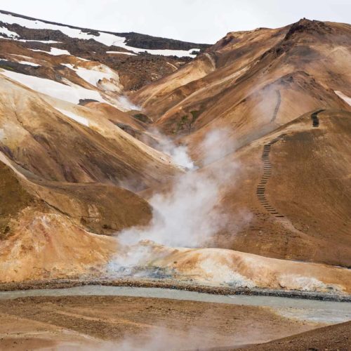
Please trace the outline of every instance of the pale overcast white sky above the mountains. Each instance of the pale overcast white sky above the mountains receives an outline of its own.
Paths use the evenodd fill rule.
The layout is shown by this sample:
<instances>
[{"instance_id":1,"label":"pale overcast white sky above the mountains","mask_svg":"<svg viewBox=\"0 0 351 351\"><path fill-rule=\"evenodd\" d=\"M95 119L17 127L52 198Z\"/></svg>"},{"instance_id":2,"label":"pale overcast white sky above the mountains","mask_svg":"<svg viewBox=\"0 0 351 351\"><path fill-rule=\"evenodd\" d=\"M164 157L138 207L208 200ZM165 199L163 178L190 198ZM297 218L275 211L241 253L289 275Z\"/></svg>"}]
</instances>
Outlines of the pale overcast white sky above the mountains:
<instances>
[{"instance_id":1,"label":"pale overcast white sky above the mountains","mask_svg":"<svg viewBox=\"0 0 351 351\"><path fill-rule=\"evenodd\" d=\"M227 32L300 18L351 22L351 0L11 0L2 10L113 32L212 44Z\"/></svg>"}]
</instances>

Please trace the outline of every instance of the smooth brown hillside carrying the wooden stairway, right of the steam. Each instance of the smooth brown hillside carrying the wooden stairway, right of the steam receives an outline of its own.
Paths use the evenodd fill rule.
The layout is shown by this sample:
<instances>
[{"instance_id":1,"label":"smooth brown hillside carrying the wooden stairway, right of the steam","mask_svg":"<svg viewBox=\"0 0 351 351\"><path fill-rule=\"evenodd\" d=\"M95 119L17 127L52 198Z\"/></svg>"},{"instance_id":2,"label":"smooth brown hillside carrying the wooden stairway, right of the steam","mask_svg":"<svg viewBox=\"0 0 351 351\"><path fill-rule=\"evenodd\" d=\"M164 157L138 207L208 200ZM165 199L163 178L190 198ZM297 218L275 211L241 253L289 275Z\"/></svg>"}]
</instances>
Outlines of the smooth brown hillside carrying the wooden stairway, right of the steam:
<instances>
[{"instance_id":1,"label":"smooth brown hillside carrying the wooden stairway, right of the steam","mask_svg":"<svg viewBox=\"0 0 351 351\"><path fill-rule=\"evenodd\" d=\"M220 204L238 225L252 216L209 246L350 267L350 135L350 112L310 112L208 165L239 164Z\"/></svg>"}]
</instances>

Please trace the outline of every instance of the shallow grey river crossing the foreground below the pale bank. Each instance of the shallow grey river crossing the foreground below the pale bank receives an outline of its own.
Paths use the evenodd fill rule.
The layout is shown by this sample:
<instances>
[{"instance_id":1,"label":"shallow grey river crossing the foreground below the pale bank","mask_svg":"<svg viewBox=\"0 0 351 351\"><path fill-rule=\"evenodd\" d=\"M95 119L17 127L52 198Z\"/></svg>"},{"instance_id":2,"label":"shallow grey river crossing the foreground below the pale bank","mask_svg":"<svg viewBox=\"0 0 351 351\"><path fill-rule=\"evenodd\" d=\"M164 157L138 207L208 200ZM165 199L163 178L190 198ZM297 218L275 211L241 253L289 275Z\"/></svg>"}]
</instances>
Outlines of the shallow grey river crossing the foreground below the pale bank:
<instances>
[{"instance_id":1,"label":"shallow grey river crossing the foreground below the pale bank","mask_svg":"<svg viewBox=\"0 0 351 351\"><path fill-rule=\"evenodd\" d=\"M28 296L135 296L143 298L171 298L175 300L192 300L205 303L230 303L232 305L270 307L284 317L296 318L308 322L333 324L351 320L351 303L307 300L303 298L244 295L225 296L176 289L98 285L76 286L67 289L0 292L1 300L24 298Z\"/></svg>"}]
</instances>

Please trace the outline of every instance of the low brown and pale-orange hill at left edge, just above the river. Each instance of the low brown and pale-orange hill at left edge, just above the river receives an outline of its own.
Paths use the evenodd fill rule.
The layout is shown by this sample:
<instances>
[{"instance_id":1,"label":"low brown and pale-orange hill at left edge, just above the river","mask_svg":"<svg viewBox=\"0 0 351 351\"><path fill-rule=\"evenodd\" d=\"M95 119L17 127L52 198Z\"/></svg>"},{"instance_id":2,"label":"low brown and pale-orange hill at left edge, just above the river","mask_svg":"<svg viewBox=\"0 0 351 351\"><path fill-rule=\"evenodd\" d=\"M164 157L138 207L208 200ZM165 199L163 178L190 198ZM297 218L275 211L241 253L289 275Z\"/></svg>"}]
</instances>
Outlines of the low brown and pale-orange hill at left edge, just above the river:
<instances>
[{"instance_id":1,"label":"low brown and pale-orange hill at left edge, just above the river","mask_svg":"<svg viewBox=\"0 0 351 351\"><path fill-rule=\"evenodd\" d=\"M0 153L1 282L94 274L117 250L101 234L151 218L147 202L128 190L42 182L21 171Z\"/></svg>"}]
</instances>

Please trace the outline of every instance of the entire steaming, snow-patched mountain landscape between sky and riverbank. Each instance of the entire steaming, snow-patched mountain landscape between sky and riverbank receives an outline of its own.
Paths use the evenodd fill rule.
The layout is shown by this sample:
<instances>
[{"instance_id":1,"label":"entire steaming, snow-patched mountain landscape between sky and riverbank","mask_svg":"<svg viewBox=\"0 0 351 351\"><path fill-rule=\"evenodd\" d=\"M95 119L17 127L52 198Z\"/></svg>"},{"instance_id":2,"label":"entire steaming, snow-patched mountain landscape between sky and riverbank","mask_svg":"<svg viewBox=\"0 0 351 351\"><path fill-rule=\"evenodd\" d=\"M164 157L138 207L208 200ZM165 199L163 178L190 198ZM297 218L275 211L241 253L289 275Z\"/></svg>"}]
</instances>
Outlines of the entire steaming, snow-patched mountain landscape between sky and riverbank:
<instances>
[{"instance_id":1,"label":"entire steaming, snow-patched mountain landscape between sky and riverbank","mask_svg":"<svg viewBox=\"0 0 351 351\"><path fill-rule=\"evenodd\" d=\"M0 35L0 282L350 293L350 25Z\"/></svg>"}]
</instances>

